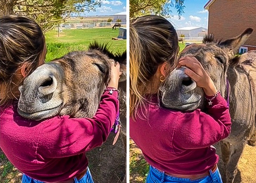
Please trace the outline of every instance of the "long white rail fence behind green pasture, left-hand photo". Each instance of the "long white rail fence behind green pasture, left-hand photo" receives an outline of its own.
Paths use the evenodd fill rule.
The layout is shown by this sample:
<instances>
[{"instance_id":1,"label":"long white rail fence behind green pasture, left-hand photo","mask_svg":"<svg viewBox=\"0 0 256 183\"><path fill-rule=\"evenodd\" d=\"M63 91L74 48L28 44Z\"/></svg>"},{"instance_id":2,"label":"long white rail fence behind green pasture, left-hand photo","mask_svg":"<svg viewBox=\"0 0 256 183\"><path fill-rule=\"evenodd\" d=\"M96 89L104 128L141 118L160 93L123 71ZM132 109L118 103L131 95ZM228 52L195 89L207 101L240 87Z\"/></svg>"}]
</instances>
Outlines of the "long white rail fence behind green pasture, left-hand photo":
<instances>
[{"instance_id":1,"label":"long white rail fence behind green pasture, left-hand photo","mask_svg":"<svg viewBox=\"0 0 256 183\"><path fill-rule=\"evenodd\" d=\"M126 22L86 22L86 23L72 23L72 24L59 24L60 30L68 29L84 29L84 28L102 28L113 27L115 24L121 24L121 27L126 27Z\"/></svg>"}]
</instances>

